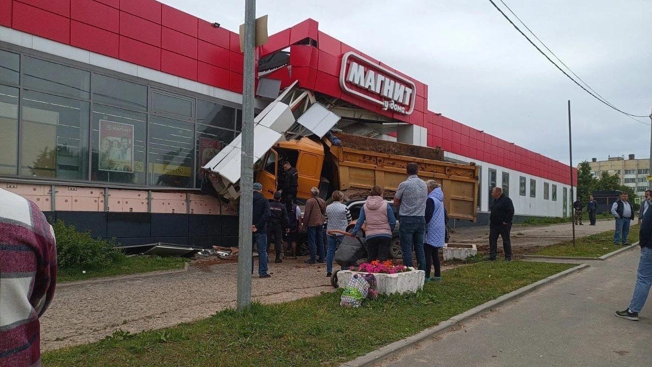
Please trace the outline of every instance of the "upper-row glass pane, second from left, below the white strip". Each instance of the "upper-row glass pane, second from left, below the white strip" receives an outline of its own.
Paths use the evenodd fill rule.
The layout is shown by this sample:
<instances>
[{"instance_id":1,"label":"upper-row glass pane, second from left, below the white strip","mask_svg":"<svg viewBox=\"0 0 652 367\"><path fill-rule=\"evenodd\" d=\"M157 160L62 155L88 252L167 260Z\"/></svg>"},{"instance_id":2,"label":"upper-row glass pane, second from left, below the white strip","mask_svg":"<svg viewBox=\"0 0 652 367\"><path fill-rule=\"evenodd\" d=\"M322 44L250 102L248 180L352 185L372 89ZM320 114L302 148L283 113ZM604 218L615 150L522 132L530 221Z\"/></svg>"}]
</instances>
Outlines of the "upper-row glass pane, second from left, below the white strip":
<instances>
[{"instance_id":1,"label":"upper-row glass pane, second from left, below the white strip","mask_svg":"<svg viewBox=\"0 0 652 367\"><path fill-rule=\"evenodd\" d=\"M23 88L81 99L91 97L91 73L80 69L25 56L23 78Z\"/></svg>"}]
</instances>

